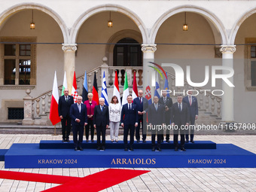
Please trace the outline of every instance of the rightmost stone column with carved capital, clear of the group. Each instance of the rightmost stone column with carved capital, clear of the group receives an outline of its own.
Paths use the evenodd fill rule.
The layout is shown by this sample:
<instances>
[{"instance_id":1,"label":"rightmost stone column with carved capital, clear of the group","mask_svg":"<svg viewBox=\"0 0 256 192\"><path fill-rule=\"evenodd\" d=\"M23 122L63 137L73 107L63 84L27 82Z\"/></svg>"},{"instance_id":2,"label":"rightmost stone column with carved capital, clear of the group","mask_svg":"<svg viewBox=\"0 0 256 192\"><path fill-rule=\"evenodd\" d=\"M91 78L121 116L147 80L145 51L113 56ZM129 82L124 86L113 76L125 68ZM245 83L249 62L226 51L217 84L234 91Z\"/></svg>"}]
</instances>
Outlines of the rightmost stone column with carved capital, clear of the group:
<instances>
[{"instance_id":1,"label":"rightmost stone column with carved capital, clear of the group","mask_svg":"<svg viewBox=\"0 0 256 192\"><path fill-rule=\"evenodd\" d=\"M227 66L233 69L233 53L236 51L236 45L221 45L222 53L222 66ZM233 84L233 77L229 78ZM234 121L233 116L233 87L228 86L222 81L222 90L224 95L222 96L221 104L221 120L226 123L232 123Z\"/></svg>"}]
</instances>

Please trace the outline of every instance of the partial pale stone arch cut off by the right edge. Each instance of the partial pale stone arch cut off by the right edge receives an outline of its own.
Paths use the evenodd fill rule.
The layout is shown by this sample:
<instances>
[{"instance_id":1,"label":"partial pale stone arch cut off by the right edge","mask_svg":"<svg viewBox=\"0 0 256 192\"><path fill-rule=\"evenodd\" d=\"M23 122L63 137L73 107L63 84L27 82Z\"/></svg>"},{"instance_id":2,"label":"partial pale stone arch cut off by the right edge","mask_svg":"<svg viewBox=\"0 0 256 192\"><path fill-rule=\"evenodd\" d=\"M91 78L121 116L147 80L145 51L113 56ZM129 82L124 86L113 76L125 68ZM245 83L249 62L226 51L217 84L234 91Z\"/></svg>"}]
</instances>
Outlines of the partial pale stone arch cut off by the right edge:
<instances>
[{"instance_id":1,"label":"partial pale stone arch cut off by the right edge","mask_svg":"<svg viewBox=\"0 0 256 192\"><path fill-rule=\"evenodd\" d=\"M235 40L236 40L236 34L240 28L240 26L242 25L242 23L248 18L250 17L252 14L256 13L256 7L251 8L250 10L248 10L247 12L245 12L245 14L242 14L242 17L239 17L238 20L236 20L236 22L233 24L233 28L231 29L230 32L230 38L229 38L229 43L230 44L235 44Z\"/></svg>"}]
</instances>

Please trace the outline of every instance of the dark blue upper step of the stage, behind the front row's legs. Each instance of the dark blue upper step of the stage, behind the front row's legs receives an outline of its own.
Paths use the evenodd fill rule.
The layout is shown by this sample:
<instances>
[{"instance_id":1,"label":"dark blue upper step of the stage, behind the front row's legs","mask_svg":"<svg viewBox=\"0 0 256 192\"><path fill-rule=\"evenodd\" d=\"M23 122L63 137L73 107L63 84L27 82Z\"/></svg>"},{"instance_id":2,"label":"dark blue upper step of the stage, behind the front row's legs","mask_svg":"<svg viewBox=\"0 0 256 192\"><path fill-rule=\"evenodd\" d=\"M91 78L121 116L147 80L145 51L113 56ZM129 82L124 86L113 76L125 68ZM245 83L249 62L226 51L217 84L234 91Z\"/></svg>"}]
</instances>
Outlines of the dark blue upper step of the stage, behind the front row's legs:
<instances>
[{"instance_id":1,"label":"dark blue upper step of the stage, behind the front row's legs","mask_svg":"<svg viewBox=\"0 0 256 192\"><path fill-rule=\"evenodd\" d=\"M105 148L107 149L123 149L123 141L119 142L111 142L106 141ZM39 144L39 148L41 149L72 149L74 148L73 141L70 142L62 142L60 140L41 140ZM82 148L84 149L96 149L97 148L97 142L83 142ZM151 149L152 144L150 141L147 141L145 143L143 142L134 142L133 144L134 149ZM173 142L170 143L163 142L161 143L162 149L174 149L175 146ZM216 143L211 141L196 141L195 143L185 143L184 148L187 149L216 149Z\"/></svg>"}]
</instances>

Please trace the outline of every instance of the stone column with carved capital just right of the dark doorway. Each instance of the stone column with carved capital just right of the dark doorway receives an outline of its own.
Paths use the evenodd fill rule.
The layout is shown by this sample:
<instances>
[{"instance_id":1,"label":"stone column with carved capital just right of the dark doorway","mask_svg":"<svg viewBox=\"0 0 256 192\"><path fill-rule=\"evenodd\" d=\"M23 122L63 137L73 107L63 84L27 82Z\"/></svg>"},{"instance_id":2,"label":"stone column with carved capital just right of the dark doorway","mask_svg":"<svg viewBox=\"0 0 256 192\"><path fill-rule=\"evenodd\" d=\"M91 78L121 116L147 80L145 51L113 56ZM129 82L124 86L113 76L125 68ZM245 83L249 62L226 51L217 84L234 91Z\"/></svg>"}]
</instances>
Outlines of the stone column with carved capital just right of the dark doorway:
<instances>
[{"instance_id":1,"label":"stone column with carved capital just right of the dark doorway","mask_svg":"<svg viewBox=\"0 0 256 192\"><path fill-rule=\"evenodd\" d=\"M152 81L155 81L155 72L154 69L148 66L153 66L153 64L149 62L154 62L154 52L157 50L157 44L142 44L142 52L143 52L143 91L144 96L146 94L146 87L150 84L151 94L153 96L152 90Z\"/></svg>"}]
</instances>

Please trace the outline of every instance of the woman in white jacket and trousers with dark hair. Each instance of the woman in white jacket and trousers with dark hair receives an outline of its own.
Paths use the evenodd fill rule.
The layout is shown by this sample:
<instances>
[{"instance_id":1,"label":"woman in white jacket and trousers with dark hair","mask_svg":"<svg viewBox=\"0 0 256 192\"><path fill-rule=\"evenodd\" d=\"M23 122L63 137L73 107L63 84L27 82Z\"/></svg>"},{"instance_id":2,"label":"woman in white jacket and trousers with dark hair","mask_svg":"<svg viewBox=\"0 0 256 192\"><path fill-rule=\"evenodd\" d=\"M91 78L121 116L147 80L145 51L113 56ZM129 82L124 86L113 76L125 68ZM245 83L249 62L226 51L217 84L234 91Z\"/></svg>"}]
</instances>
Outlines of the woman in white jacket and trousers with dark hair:
<instances>
[{"instance_id":1,"label":"woman in white jacket and trousers with dark hair","mask_svg":"<svg viewBox=\"0 0 256 192\"><path fill-rule=\"evenodd\" d=\"M110 139L111 142L118 142L118 131L121 117L121 105L117 99L117 96L113 96L111 103L108 106L109 110L109 127L110 127Z\"/></svg>"}]
</instances>

